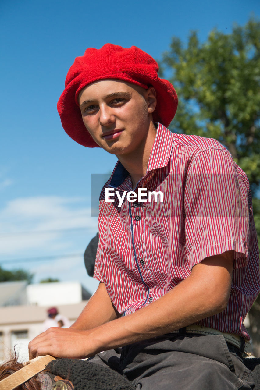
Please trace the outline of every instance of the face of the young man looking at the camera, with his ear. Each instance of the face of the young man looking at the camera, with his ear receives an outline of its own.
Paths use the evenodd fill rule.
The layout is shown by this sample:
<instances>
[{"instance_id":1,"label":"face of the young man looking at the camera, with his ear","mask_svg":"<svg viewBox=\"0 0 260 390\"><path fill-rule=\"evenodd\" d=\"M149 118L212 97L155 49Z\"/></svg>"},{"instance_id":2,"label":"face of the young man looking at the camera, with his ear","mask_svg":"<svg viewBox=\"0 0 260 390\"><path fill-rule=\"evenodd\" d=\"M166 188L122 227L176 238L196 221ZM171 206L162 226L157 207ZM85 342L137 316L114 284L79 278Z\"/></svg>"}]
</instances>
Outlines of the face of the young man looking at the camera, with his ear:
<instances>
[{"instance_id":1,"label":"face of the young man looking at the camera, with his ear","mask_svg":"<svg viewBox=\"0 0 260 390\"><path fill-rule=\"evenodd\" d=\"M145 90L119 80L100 80L85 87L78 97L85 127L96 143L116 155L145 147L155 130L153 88Z\"/></svg>"}]
</instances>

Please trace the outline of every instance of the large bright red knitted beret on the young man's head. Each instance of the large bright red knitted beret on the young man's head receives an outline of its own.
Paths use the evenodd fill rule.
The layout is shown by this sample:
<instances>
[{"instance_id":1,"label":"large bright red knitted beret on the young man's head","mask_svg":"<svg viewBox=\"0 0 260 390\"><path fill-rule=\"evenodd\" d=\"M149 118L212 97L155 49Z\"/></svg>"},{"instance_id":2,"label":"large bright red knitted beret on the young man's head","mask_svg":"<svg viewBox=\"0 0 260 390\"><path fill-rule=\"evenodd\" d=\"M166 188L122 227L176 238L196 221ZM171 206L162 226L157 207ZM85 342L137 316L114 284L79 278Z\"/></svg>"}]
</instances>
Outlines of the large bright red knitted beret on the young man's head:
<instances>
[{"instance_id":1,"label":"large bright red knitted beret on the young man's head","mask_svg":"<svg viewBox=\"0 0 260 390\"><path fill-rule=\"evenodd\" d=\"M178 97L173 85L158 77L158 69L157 62L136 46L125 49L107 43L101 49L88 48L69 68L57 104L62 127L78 144L99 147L83 123L78 94L90 83L103 79L122 80L145 89L153 86L157 93L153 121L169 126L177 110Z\"/></svg>"}]
</instances>

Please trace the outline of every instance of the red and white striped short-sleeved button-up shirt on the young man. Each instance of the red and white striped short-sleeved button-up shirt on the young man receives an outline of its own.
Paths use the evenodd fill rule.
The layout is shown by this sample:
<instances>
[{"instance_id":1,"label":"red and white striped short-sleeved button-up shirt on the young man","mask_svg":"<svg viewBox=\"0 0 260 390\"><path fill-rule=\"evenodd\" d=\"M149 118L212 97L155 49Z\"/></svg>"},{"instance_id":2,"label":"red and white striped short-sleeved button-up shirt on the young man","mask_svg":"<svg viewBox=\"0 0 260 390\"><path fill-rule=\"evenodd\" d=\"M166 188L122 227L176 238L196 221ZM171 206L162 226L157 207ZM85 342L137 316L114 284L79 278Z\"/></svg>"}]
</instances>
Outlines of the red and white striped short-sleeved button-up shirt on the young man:
<instances>
[{"instance_id":1,"label":"red and white striped short-sleeved button-up shirt on the young man","mask_svg":"<svg viewBox=\"0 0 260 390\"><path fill-rule=\"evenodd\" d=\"M228 307L196 325L249 339L243 320L260 290L259 256L246 174L211 138L173 134L161 124L138 188L162 191L163 202L105 202L105 188L132 191L117 163L100 195L94 277L127 315L189 277L205 257L235 250ZM111 197L110 197L111 199ZM207 297L205 297L207 299Z\"/></svg>"}]
</instances>

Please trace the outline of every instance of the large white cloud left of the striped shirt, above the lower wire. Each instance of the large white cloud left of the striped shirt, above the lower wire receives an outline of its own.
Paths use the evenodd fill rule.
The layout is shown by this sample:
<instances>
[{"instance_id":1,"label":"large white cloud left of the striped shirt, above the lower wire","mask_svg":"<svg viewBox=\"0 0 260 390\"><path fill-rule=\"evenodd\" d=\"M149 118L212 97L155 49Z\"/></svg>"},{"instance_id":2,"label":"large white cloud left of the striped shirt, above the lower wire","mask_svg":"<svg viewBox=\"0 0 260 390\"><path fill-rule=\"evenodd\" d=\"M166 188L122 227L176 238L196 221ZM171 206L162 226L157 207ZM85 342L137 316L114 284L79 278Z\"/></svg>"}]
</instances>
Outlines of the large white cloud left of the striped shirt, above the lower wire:
<instances>
[{"instance_id":1,"label":"large white cloud left of the striped shirt, above the lower wire","mask_svg":"<svg viewBox=\"0 0 260 390\"><path fill-rule=\"evenodd\" d=\"M61 248L69 250L74 238L73 234L68 238L66 229L86 229L94 235L97 219L91 217L91 209L84 203L82 198L54 196L9 201L0 209L0 254L30 257L30 251L36 249L38 256L52 255Z\"/></svg>"}]
</instances>

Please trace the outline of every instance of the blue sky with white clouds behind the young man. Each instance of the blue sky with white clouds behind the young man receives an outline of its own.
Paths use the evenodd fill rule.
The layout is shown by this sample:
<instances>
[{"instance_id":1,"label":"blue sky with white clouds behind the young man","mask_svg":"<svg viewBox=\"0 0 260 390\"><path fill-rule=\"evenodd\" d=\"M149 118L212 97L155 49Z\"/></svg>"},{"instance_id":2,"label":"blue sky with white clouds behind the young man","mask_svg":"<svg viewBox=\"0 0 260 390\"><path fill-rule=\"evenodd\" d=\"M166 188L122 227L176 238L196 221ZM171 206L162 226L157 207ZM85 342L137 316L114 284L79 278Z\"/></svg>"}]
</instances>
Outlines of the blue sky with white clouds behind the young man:
<instances>
[{"instance_id":1,"label":"blue sky with white clouds behind the young man","mask_svg":"<svg viewBox=\"0 0 260 390\"><path fill-rule=\"evenodd\" d=\"M252 13L260 17L259 0L2 0L2 267L27 269L35 282L79 280L91 292L97 286L83 262L98 229L91 174L110 172L116 158L78 145L62 129L56 104L74 58L109 42L138 46L159 60L171 37L186 41L197 30L205 41L212 28L229 33Z\"/></svg>"}]
</instances>

